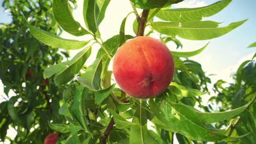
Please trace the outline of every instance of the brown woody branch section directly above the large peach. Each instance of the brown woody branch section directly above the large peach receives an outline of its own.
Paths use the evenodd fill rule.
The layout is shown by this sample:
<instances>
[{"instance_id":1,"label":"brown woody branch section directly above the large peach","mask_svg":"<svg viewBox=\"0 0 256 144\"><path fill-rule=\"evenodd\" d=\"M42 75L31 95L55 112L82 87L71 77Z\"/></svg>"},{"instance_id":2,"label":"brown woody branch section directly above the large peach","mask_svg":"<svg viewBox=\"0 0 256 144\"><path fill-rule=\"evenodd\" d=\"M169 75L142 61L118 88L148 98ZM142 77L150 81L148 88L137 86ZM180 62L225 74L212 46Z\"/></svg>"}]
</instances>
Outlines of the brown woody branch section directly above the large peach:
<instances>
[{"instance_id":1,"label":"brown woody branch section directly above the large peach","mask_svg":"<svg viewBox=\"0 0 256 144\"><path fill-rule=\"evenodd\" d=\"M144 29L145 29L145 26L146 26L146 23L147 23L148 13L149 13L148 9L143 9L142 16L137 17L137 21L138 21L137 36L143 36L144 35Z\"/></svg>"}]
</instances>

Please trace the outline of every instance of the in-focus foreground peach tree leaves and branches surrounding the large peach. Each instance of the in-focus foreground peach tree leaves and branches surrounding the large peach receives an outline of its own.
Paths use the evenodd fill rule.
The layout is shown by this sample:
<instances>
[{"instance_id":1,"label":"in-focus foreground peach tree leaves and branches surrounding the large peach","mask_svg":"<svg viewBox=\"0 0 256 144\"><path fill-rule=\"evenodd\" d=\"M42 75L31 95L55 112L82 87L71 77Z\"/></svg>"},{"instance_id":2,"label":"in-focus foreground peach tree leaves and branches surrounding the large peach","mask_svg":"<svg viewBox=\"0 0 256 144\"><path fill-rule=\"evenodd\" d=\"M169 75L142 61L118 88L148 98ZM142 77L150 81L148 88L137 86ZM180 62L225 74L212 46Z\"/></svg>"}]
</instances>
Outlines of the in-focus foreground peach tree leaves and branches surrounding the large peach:
<instances>
[{"instance_id":1,"label":"in-focus foreground peach tree leaves and branches surrounding the large peach","mask_svg":"<svg viewBox=\"0 0 256 144\"><path fill-rule=\"evenodd\" d=\"M128 14L120 23L119 35L113 35L104 41L98 27L104 19L109 2L110 0L84 0L83 27L74 20L68 0L54 0L52 9L56 22L64 31L74 36L91 35L91 38L83 41L61 38L35 27L27 21L32 15L24 14L24 22L32 35L50 46L50 49L81 49L69 61L50 65L44 70L44 79L53 80L56 86L70 83L59 101L59 114L65 116L67 122L48 123L51 129L59 131L59 143L173 143L174 134L180 142L197 143L237 141L251 134L248 131L243 135L237 133L231 136L228 125L226 129L220 129L214 127L214 123L229 121L245 111L252 105L255 95L247 103L230 111L214 113L194 108L195 103L200 103L200 96L208 93L207 83L211 81L203 73L201 65L188 58L198 55L208 44L196 51L171 52L176 69L173 80L155 98L138 99L125 93L115 84L112 69L108 69L119 47L135 37L150 37L158 33L158 39L162 43L174 41L177 46L181 46L177 37L207 40L229 33L246 20L219 27L219 22L202 21L202 17L217 14L231 0L219 1L206 7L183 9L171 8L172 4L182 0L130 0L131 5L127 7L132 7L133 11L127 13L136 15L130 26L135 34L125 34ZM143 9L141 14L137 12L138 9ZM144 31L146 27L149 31ZM94 51L92 45L96 44L101 48L97 51L94 62L84 65ZM72 81L79 83L72 84Z\"/></svg>"}]
</instances>

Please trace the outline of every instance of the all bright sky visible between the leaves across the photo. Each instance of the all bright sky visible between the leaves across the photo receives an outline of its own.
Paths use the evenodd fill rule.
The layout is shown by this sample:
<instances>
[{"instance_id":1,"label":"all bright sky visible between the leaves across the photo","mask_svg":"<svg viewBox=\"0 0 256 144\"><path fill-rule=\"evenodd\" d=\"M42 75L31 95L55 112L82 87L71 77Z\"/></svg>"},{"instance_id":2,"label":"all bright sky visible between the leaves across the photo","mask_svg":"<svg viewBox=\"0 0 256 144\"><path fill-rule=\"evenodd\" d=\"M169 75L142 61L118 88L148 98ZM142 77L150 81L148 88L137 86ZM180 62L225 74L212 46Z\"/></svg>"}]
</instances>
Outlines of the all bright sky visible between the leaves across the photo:
<instances>
[{"instance_id":1,"label":"all bright sky visible between the leaves across the photo","mask_svg":"<svg viewBox=\"0 0 256 144\"><path fill-rule=\"evenodd\" d=\"M0 3L2 2L3 0L0 0ZM172 8L203 7L214 2L217 2L217 0L185 0L181 3L173 4ZM82 13L83 1L78 0L77 3L78 8L73 11L73 16L75 20L80 22L80 24L85 27ZM171 51L193 51L196 49L200 49L210 41L210 44L203 52L201 52L197 56L191 57L190 59L199 62L202 65L202 69L206 71L207 75L215 74L213 76L210 76L212 80L212 85L209 86L211 95L214 95L214 93L211 91L213 83L215 83L219 79L232 82L232 79L230 77L231 73L234 73L243 61L251 59L253 53L255 52L255 48L246 48L249 44L252 44L256 41L255 5L255 0L233 0L228 5L228 7L224 8L218 14L203 19L223 22L220 26L226 26L229 25L229 23L231 22L249 19L248 21L243 23L243 25L237 27L228 34L223 35L222 37L200 41L185 40L178 37L178 39L181 40L183 44L183 49L179 50L176 50L176 45L174 44L167 45ZM126 15L130 13L130 11L132 11L132 8L128 0L112 0L109 3L104 20L99 27L103 41L113 37L113 35L119 34L121 21L123 21L124 17L126 17ZM141 12L141 10L138 10L138 12ZM130 15L128 17L125 27L126 34L135 35L132 31L132 23L134 20L134 15ZM2 7L0 7L0 25L3 22L10 23L11 16L9 15L8 10L4 10ZM62 33L61 37L77 40L88 39L87 36L74 37L73 35L65 32ZM93 62L98 49L98 45L92 47L92 56L85 63L86 65L89 65ZM74 56L79 51L80 50L71 51L71 55ZM109 69L112 69L111 63ZM15 95L13 93L9 94L9 96ZM3 85L1 81L0 95L3 95ZM204 98L203 105L206 105L208 98L210 98L209 95ZM9 132L9 134L10 133L13 132Z\"/></svg>"}]
</instances>

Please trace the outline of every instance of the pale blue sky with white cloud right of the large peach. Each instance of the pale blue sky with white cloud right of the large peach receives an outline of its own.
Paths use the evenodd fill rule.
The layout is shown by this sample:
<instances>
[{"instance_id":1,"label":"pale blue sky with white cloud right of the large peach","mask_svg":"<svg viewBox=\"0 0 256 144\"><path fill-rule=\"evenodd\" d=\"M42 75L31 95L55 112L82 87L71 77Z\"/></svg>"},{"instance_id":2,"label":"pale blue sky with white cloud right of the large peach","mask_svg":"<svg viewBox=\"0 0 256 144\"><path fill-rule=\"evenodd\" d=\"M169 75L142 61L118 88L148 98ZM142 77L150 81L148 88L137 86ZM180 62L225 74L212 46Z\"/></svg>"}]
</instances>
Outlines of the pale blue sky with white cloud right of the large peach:
<instances>
[{"instance_id":1,"label":"pale blue sky with white cloud right of the large peach","mask_svg":"<svg viewBox=\"0 0 256 144\"><path fill-rule=\"evenodd\" d=\"M212 4L217 1L184 1L183 4L177 4L178 6L186 6L190 4L191 7L203 4ZM200 55L193 57L197 62L202 64L204 70L208 74L217 74L211 78L216 81L219 79L229 79L229 72L235 71L237 63L241 63L241 59L245 59L251 53L255 52L255 48L246 49L246 47L256 41L256 1L238 1L233 0L228 7L224 8L218 14L207 17L206 20L212 20L217 22L223 22L220 26L229 25L231 22L241 21L249 19L242 26L237 27L228 34L222 37L202 40L202 41L191 41L182 40L183 50L189 51L190 48L199 48L210 41L208 47L200 53ZM175 5L176 6L176 5Z\"/></svg>"}]
</instances>

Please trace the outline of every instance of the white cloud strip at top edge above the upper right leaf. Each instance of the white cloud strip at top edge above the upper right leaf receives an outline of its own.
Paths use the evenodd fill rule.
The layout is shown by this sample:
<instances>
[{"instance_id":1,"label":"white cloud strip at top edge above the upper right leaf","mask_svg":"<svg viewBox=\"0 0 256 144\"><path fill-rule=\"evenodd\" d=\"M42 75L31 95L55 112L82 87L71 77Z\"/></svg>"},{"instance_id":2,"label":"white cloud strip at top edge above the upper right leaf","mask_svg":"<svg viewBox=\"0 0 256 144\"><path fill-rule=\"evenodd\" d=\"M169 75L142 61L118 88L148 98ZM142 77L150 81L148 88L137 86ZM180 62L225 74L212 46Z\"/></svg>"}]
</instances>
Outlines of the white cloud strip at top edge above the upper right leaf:
<instances>
[{"instance_id":1,"label":"white cloud strip at top edge above the upper right leaf","mask_svg":"<svg viewBox=\"0 0 256 144\"><path fill-rule=\"evenodd\" d=\"M172 8L197 8L204 7L206 5L207 3L205 1L185 0L177 4L173 4Z\"/></svg>"}]
</instances>

